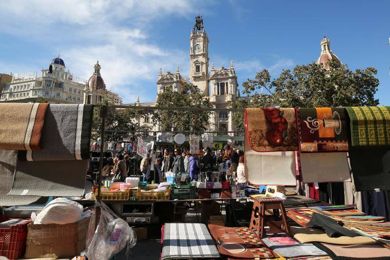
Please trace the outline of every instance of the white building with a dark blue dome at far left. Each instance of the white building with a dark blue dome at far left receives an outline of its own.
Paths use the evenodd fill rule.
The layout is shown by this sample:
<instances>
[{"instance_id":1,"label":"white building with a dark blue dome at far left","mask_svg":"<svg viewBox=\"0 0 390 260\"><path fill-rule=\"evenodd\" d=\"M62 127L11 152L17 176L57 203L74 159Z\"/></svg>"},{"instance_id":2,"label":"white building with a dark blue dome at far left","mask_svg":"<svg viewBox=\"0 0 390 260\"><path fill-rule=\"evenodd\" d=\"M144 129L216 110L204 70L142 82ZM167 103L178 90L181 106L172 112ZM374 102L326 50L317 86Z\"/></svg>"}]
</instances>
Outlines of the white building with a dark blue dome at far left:
<instances>
[{"instance_id":1,"label":"white building with a dark blue dome at far left","mask_svg":"<svg viewBox=\"0 0 390 260\"><path fill-rule=\"evenodd\" d=\"M38 72L14 74L12 80L4 84L0 101L36 102L40 99L48 103L83 103L87 80L74 76L65 68L65 62L57 57L48 69L41 70L40 76ZM121 103L115 93L111 93L111 99Z\"/></svg>"}]
</instances>

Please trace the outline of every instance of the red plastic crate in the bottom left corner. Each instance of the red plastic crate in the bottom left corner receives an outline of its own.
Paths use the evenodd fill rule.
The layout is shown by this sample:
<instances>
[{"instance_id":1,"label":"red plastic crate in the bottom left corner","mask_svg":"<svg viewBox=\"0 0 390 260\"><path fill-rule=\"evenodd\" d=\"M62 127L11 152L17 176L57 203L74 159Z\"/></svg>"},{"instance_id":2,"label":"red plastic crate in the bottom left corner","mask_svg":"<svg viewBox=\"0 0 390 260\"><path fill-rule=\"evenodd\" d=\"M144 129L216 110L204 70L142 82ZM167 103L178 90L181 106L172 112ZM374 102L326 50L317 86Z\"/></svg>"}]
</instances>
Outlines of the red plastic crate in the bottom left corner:
<instances>
[{"instance_id":1,"label":"red plastic crate in the bottom left corner","mask_svg":"<svg viewBox=\"0 0 390 260\"><path fill-rule=\"evenodd\" d=\"M19 259L26 249L27 220L19 225L9 228L0 228L0 256L9 260Z\"/></svg>"}]
</instances>

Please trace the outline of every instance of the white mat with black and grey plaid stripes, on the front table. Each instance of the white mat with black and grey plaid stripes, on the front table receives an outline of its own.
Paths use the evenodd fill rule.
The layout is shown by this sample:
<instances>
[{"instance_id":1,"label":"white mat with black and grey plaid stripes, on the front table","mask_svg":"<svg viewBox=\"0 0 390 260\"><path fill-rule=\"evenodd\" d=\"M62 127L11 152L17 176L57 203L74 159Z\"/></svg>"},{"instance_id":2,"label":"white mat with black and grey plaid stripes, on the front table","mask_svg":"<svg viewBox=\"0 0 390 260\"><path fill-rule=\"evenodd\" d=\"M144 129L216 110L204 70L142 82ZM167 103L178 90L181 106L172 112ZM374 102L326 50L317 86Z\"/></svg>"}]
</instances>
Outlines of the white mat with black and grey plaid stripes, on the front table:
<instances>
[{"instance_id":1,"label":"white mat with black and grey plaid stripes, on the front table","mask_svg":"<svg viewBox=\"0 0 390 260\"><path fill-rule=\"evenodd\" d=\"M166 223L162 260L219 258L218 250L205 224Z\"/></svg>"}]
</instances>

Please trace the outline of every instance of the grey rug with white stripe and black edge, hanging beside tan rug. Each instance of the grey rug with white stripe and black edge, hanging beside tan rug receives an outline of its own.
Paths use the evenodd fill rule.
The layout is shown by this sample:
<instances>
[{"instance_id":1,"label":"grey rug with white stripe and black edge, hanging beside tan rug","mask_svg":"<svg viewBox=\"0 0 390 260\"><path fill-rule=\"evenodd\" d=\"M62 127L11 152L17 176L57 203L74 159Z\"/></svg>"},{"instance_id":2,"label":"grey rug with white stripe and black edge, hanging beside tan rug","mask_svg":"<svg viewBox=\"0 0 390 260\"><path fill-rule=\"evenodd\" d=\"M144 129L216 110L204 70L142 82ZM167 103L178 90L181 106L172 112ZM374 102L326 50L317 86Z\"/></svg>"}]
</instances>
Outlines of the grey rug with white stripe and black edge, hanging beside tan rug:
<instances>
[{"instance_id":1,"label":"grey rug with white stripe and black edge, hanging beside tan rug","mask_svg":"<svg viewBox=\"0 0 390 260\"><path fill-rule=\"evenodd\" d=\"M20 151L19 160L89 159L93 105L51 104L42 130L41 151Z\"/></svg>"}]
</instances>

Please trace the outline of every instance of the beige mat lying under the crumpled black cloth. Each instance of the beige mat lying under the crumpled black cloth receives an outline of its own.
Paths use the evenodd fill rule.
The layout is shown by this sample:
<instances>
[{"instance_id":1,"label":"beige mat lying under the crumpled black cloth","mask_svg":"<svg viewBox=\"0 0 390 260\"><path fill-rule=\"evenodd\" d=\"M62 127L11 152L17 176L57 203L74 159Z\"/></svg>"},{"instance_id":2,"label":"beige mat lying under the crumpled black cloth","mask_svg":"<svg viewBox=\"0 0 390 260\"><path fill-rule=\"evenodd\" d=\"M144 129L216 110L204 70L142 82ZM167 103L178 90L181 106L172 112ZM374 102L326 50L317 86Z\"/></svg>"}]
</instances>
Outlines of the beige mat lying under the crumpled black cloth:
<instances>
[{"instance_id":1,"label":"beige mat lying under the crumpled black cloth","mask_svg":"<svg viewBox=\"0 0 390 260\"><path fill-rule=\"evenodd\" d=\"M339 238L331 238L328 237L328 235L324 231L314 228L291 227L291 231L292 234L294 234L294 238L301 243L321 242L339 245L362 245L375 243L375 240L362 236L354 238L346 236L342 236Z\"/></svg>"}]
</instances>

